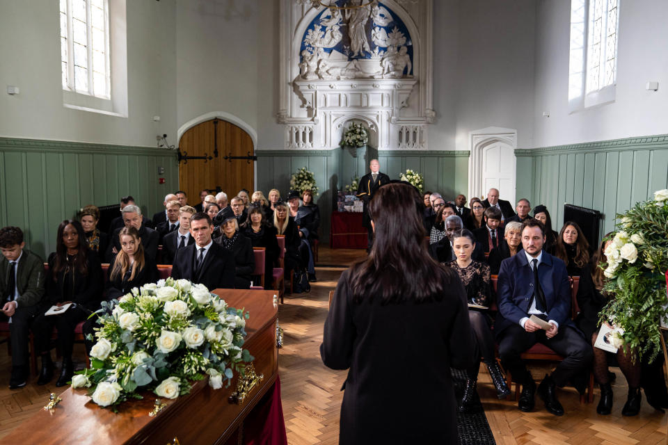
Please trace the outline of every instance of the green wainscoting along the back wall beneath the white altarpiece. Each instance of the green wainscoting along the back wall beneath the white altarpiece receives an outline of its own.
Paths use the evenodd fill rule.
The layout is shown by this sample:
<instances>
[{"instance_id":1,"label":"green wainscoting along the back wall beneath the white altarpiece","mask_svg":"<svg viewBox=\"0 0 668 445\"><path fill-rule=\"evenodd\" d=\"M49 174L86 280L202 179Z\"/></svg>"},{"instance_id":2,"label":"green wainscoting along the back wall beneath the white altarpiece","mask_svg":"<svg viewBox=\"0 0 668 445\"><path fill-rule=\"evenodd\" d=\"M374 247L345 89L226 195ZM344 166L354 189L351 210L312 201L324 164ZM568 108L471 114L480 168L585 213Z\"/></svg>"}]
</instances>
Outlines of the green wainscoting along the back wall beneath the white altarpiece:
<instances>
[{"instance_id":1,"label":"green wainscoting along the back wall beneath the white altarpiece","mask_svg":"<svg viewBox=\"0 0 668 445\"><path fill-rule=\"evenodd\" d=\"M331 209L335 206L335 193L350 184L355 176L368 172L369 156L377 153L381 172L392 179L411 168L424 175L426 190L443 193L454 199L457 193L468 188L467 151L418 151L379 150L361 147L353 157L347 149L333 150L257 150L257 187L265 195L271 188L278 188L281 196L289 191L290 177L302 167L315 174L319 195L315 198L320 207L321 239L328 243Z\"/></svg>"}]
</instances>

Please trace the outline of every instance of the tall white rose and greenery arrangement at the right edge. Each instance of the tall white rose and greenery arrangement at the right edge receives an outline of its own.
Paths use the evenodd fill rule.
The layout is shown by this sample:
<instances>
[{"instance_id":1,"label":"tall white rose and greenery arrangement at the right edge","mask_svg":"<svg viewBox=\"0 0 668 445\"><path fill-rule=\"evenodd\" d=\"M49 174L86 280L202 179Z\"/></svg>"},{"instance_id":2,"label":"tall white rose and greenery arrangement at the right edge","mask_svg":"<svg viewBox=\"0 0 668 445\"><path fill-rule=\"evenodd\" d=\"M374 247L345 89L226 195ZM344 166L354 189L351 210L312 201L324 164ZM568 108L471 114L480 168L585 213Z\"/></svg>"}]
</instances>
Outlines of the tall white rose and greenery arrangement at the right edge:
<instances>
[{"instance_id":1,"label":"tall white rose and greenery arrangement at the right edge","mask_svg":"<svg viewBox=\"0 0 668 445\"><path fill-rule=\"evenodd\" d=\"M653 359L661 347L660 320L668 317L668 189L618 214L610 240L601 267L611 298L601 321L623 328L624 343Z\"/></svg>"}]
</instances>

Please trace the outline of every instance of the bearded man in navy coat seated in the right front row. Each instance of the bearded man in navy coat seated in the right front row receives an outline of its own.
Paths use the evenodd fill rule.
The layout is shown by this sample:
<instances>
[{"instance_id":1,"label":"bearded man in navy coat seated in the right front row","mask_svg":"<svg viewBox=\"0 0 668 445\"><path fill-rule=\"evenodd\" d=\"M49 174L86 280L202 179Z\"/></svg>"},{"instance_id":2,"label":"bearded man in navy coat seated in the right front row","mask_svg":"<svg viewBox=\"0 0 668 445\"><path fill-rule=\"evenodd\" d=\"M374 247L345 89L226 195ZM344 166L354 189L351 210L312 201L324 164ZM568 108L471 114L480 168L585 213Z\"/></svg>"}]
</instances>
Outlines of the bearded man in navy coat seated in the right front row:
<instances>
[{"instance_id":1,"label":"bearded man in navy coat seated in the right front row","mask_svg":"<svg viewBox=\"0 0 668 445\"><path fill-rule=\"evenodd\" d=\"M534 409L536 384L520 354L535 343L543 343L564 357L538 387L548 412L561 416L564 408L557 400L556 387L563 387L590 366L594 353L570 318L571 283L566 264L543 252L543 243L543 224L533 218L525 221L522 229L524 250L501 263L497 297L499 313L494 331L504 369L511 372L513 380L523 385L518 403L522 411ZM544 330L532 322L532 315L549 323L550 328Z\"/></svg>"}]
</instances>

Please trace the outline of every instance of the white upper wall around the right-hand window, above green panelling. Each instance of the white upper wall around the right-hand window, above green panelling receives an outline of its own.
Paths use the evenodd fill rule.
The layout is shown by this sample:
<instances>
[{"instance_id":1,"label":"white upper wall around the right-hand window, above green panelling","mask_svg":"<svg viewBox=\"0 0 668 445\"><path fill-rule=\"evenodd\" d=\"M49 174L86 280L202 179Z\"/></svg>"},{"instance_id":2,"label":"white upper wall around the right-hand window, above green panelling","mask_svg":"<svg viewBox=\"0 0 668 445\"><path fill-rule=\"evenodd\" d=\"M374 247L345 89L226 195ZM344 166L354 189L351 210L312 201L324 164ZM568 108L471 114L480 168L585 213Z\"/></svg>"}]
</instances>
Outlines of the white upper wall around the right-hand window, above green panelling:
<instances>
[{"instance_id":1,"label":"white upper wall around the right-hand window, above green panelling","mask_svg":"<svg viewBox=\"0 0 668 445\"><path fill-rule=\"evenodd\" d=\"M539 0L536 18L534 145L668 133L668 34L664 0L621 0L614 103L568 112L571 2ZM658 91L645 90L658 81ZM543 118L549 111L550 118ZM523 147L530 148L530 147Z\"/></svg>"}]
</instances>

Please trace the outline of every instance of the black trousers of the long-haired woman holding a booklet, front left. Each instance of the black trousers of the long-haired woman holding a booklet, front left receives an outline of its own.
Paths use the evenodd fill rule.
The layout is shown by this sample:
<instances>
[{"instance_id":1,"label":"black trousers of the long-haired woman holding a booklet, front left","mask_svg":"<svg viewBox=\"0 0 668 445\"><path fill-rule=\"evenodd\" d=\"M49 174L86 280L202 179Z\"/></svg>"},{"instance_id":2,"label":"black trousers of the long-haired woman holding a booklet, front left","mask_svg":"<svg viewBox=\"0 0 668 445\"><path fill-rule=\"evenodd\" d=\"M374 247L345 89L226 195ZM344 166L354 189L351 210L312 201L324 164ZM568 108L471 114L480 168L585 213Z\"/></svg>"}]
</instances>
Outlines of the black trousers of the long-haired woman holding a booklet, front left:
<instances>
[{"instance_id":1,"label":"black trousers of the long-haired woman holding a booklet, front left","mask_svg":"<svg viewBox=\"0 0 668 445\"><path fill-rule=\"evenodd\" d=\"M49 306L51 307L51 306ZM77 306L70 307L64 314L45 316L44 313L49 307L42 308L41 314L35 318L33 323L33 334L35 334L35 349L38 353L48 353L51 333L54 327L58 331L58 348L63 354L63 359L72 358L72 349L74 348L74 328L80 321L86 320L89 311Z\"/></svg>"}]
</instances>

